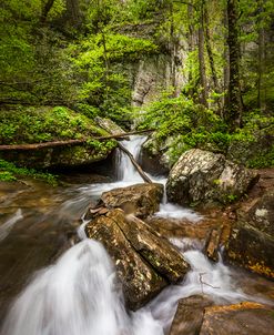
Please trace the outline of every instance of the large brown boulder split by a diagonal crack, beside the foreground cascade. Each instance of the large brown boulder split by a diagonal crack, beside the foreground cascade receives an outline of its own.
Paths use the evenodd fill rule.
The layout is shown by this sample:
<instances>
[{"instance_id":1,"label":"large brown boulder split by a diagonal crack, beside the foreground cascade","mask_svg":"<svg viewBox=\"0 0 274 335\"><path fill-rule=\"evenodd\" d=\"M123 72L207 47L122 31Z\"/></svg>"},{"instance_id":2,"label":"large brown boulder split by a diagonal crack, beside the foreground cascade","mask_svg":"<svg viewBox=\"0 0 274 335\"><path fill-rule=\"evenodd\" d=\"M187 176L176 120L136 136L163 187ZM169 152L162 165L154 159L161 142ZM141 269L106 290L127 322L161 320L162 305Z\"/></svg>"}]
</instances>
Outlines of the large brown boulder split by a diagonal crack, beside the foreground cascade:
<instances>
[{"instance_id":1,"label":"large brown boulder split by a diagonal crack, beside the foreground cascade","mask_svg":"<svg viewBox=\"0 0 274 335\"><path fill-rule=\"evenodd\" d=\"M174 246L120 209L97 216L85 232L102 242L111 255L131 309L143 306L169 282L182 280L189 270Z\"/></svg>"}]
</instances>

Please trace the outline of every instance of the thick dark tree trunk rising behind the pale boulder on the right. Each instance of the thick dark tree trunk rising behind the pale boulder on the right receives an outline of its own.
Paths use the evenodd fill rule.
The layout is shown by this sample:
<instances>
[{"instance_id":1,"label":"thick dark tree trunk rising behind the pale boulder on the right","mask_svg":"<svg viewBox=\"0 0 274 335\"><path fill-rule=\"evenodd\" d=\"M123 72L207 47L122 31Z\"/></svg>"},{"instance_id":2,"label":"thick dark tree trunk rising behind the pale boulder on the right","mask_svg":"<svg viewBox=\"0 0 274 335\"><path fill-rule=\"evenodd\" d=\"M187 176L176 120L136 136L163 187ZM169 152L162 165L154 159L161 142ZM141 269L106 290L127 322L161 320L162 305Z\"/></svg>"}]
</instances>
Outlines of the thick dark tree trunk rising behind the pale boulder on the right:
<instances>
[{"instance_id":1,"label":"thick dark tree trunk rising behind the pale boulder on the right","mask_svg":"<svg viewBox=\"0 0 274 335\"><path fill-rule=\"evenodd\" d=\"M227 0L229 35L227 45L230 53L230 83L229 101L225 119L233 131L242 122L242 98L240 88L240 44L237 31L237 0Z\"/></svg>"}]
</instances>

